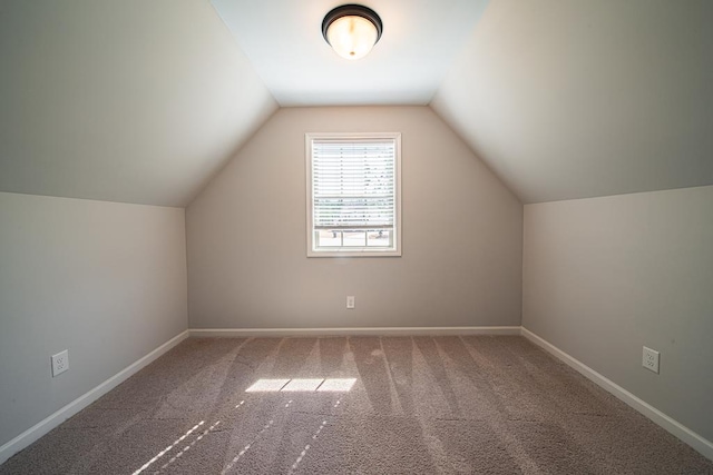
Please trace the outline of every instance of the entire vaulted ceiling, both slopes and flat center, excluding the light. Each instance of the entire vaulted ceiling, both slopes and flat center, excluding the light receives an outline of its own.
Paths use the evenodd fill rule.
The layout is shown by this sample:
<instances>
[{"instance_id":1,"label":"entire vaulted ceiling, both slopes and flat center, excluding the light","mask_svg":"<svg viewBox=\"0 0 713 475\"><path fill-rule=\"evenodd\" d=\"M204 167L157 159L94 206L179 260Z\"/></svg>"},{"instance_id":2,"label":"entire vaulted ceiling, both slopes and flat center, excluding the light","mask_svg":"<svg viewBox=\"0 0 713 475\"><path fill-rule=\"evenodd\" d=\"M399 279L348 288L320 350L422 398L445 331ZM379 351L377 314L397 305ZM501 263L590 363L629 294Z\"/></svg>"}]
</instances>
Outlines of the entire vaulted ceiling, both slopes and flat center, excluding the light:
<instances>
[{"instance_id":1,"label":"entire vaulted ceiling, both slopes and flat center, excluding the light","mask_svg":"<svg viewBox=\"0 0 713 475\"><path fill-rule=\"evenodd\" d=\"M0 191L186 206L279 108L430 105L524 202L713 185L713 2L0 0ZM434 157L439 159L439 157Z\"/></svg>"}]
</instances>

